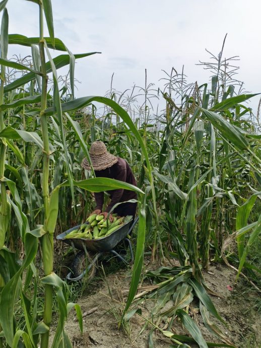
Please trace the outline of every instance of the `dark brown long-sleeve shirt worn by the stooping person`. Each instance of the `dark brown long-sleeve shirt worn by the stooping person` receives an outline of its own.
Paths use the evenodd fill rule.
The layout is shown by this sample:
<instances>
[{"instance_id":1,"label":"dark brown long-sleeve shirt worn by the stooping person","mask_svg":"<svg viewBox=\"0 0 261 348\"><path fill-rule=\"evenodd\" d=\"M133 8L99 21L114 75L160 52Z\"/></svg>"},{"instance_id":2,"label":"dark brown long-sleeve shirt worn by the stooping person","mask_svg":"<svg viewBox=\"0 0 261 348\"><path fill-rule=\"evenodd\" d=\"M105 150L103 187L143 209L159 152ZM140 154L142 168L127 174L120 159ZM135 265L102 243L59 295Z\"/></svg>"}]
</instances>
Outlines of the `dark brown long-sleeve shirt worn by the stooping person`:
<instances>
[{"instance_id":1,"label":"dark brown long-sleeve shirt worn by the stooping person","mask_svg":"<svg viewBox=\"0 0 261 348\"><path fill-rule=\"evenodd\" d=\"M113 164L111 167L103 170L95 170L95 175L97 178L110 178L137 186L132 169L130 169L128 163L120 157L118 157L118 162ZM129 199L137 199L137 193L130 190L120 189L110 190L107 192L110 195L111 199L109 205L105 210L107 212L109 212L113 205L116 203L128 201ZM94 196L96 201L95 209L102 210L104 202L104 192L94 193Z\"/></svg>"}]
</instances>

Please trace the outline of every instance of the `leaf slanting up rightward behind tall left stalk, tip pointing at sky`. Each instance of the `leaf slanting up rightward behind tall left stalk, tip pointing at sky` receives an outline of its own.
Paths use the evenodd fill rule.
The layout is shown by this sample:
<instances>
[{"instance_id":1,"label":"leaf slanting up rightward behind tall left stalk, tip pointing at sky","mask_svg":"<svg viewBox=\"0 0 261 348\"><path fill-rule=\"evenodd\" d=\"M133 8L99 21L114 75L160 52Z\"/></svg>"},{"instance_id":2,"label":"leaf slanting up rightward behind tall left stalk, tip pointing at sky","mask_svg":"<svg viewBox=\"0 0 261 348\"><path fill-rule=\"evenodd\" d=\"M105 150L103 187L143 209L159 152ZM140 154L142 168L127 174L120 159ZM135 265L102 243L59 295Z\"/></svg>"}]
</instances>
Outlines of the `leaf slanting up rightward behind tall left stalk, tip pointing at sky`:
<instances>
[{"instance_id":1,"label":"leaf slanting up rightward behind tall left stalk, tip pointing at sky","mask_svg":"<svg viewBox=\"0 0 261 348\"><path fill-rule=\"evenodd\" d=\"M34 43L38 43L38 41L34 42ZM74 56L75 56L75 59L79 59L79 58L84 58L84 57L87 57L89 55L96 54L96 53L99 53L99 52L74 54ZM62 67L65 67L68 64L70 64L70 56L68 54L58 55L57 57L55 57L53 59L53 63L55 65L56 69L60 69ZM46 63L46 73L49 74L50 72L51 72L51 65L50 65L50 62L47 62ZM10 91L20 87L20 86L24 86L34 79L35 79L35 74L32 72L28 73L26 75L23 75L22 77L16 79L14 82L11 82L10 84L6 85L4 87L4 92L7 93L7 92L10 92Z\"/></svg>"}]
</instances>

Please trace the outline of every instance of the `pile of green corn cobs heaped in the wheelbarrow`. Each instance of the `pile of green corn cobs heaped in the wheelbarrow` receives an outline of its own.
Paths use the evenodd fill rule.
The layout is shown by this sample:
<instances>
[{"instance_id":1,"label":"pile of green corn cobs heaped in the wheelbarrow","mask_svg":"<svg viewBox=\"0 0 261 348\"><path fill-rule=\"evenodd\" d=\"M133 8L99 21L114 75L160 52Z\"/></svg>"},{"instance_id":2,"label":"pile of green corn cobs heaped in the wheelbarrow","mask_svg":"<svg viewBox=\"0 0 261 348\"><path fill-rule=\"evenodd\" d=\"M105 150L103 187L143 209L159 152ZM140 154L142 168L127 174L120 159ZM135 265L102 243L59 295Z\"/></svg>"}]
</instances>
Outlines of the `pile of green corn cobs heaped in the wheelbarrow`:
<instances>
[{"instance_id":1,"label":"pile of green corn cobs heaped in the wheelbarrow","mask_svg":"<svg viewBox=\"0 0 261 348\"><path fill-rule=\"evenodd\" d=\"M124 223L124 217L112 214L113 221L104 220L104 216L100 214L92 214L88 217L87 222L83 223L80 228L74 229L64 239L84 238L98 239L110 235Z\"/></svg>"}]
</instances>

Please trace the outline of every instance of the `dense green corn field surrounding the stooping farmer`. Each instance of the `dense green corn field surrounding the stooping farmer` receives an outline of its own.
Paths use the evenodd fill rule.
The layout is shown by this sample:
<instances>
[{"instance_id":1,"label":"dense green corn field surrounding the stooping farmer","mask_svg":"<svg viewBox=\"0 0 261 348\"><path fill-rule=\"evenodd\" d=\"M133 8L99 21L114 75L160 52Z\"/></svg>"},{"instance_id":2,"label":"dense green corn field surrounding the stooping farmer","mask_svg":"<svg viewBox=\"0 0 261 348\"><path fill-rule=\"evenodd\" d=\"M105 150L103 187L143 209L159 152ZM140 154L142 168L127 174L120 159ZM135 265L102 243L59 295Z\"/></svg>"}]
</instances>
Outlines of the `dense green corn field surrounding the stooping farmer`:
<instances>
[{"instance_id":1,"label":"dense green corn field surrounding the stooping farmer","mask_svg":"<svg viewBox=\"0 0 261 348\"><path fill-rule=\"evenodd\" d=\"M208 346L186 310L192 300L199 302L206 327L222 346L233 347L211 324L210 314L224 319L208 295L203 271L210 262L225 262L237 270L237 278L260 272L247 260L261 231L261 217L249 218L261 197L260 125L246 103L255 94L243 93L221 52L214 64L205 63L210 84L187 83L183 72L172 69L162 90L154 90L146 78L145 87L130 94L111 88L107 96L76 98L75 62L98 52L72 53L54 36L51 0L29 1L39 7L35 37L10 34L9 2L0 3L0 348L72 347L64 323L74 308L82 331L82 314L54 272L54 239L86 221L94 208L92 192L112 187L135 190L139 197L135 262L121 322L137 312L129 308L146 249L154 263L179 262L146 273L157 284L145 295L156 300L153 315L169 318L166 330L152 326L150 347L156 328L172 346ZM18 50L27 46L31 59L9 60L14 44ZM61 54L53 58L50 49ZM66 66L69 83L58 75ZM156 99L165 106L155 113ZM127 160L138 188L82 169L96 140ZM54 297L58 319L52 325ZM162 314L170 299L173 307ZM175 318L190 340L172 332ZM50 329L55 331L51 342Z\"/></svg>"}]
</instances>

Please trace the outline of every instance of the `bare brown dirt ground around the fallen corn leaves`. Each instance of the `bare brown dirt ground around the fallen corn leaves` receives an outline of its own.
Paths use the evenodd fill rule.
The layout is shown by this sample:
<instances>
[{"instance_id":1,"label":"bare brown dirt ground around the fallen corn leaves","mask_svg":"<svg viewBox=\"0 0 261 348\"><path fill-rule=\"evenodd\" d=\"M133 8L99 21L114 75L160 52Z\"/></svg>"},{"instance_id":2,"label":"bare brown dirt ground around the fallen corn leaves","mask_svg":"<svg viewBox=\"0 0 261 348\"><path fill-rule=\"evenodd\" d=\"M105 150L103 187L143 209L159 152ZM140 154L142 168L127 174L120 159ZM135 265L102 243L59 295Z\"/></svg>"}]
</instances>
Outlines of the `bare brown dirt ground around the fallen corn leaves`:
<instances>
[{"instance_id":1,"label":"bare brown dirt ground around the fallen corn leaves","mask_svg":"<svg viewBox=\"0 0 261 348\"><path fill-rule=\"evenodd\" d=\"M153 269L151 264L145 265L144 269L148 267ZM154 268L156 269L158 266ZM75 312L71 312L66 323L66 330L73 346L81 348L149 347L148 336L151 326L150 324L146 326L146 321L138 314L135 314L128 324L118 329L118 320L128 294L130 268L120 269L113 274L108 273L106 276L103 271L97 273L98 277L85 288L81 298L77 301L84 315L83 335L80 333ZM212 301L228 326L225 327L212 318L213 322L222 329L222 332L237 348L260 348L261 317L251 307L252 303L241 296L239 286L234 283L235 272L227 266L211 265L210 270L205 272L204 276L209 288L217 295L211 296ZM152 299L139 302L143 316L150 317L150 310L154 303L155 300ZM210 342L221 343L204 326L201 316L197 314L197 306L198 303L192 303L195 319L204 338ZM93 312L90 313L91 311ZM173 328L175 333L187 335L181 324L174 322ZM153 343L154 348L169 348L171 341L156 330L153 334Z\"/></svg>"}]
</instances>

